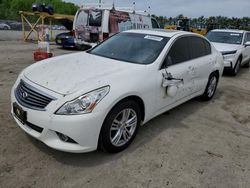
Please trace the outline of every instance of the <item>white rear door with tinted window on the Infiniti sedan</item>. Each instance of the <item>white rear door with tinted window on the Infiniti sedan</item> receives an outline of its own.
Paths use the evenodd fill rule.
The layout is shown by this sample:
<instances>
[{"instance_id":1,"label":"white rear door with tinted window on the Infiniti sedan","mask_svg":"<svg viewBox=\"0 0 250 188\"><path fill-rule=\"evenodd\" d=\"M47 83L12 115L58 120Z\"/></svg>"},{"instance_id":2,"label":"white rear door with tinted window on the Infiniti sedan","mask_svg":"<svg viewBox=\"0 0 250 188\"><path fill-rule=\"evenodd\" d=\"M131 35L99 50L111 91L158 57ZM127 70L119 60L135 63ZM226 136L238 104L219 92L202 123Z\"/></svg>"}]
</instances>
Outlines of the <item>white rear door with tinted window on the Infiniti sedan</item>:
<instances>
[{"instance_id":1,"label":"white rear door with tinted window on the Infiniti sedan","mask_svg":"<svg viewBox=\"0 0 250 188\"><path fill-rule=\"evenodd\" d=\"M208 77L216 64L216 56L211 52L211 45L205 39L198 36L189 37L192 64L195 70L194 91L199 92L207 84Z\"/></svg>"}]
</instances>

